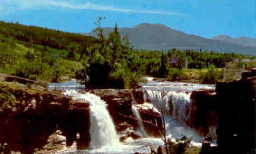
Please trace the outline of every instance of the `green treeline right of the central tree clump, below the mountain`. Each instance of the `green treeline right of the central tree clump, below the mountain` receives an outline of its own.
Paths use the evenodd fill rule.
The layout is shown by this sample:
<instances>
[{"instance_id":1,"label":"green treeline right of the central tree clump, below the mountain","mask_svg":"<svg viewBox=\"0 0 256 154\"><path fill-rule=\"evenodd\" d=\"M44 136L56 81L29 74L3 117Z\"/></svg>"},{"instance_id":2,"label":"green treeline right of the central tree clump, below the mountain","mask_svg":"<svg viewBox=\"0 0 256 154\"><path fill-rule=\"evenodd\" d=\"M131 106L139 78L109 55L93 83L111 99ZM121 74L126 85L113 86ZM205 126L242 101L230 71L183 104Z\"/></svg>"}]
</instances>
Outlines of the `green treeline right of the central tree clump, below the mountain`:
<instances>
[{"instance_id":1,"label":"green treeline right of the central tree clump, below the mountain","mask_svg":"<svg viewBox=\"0 0 256 154\"><path fill-rule=\"evenodd\" d=\"M255 58L242 54L222 54L213 51L181 51L175 48L167 52L141 50L135 52L140 57L143 74L155 77L167 77L171 68L203 69L208 68L210 65L222 68L225 67L225 62L235 59Z\"/></svg>"}]
</instances>

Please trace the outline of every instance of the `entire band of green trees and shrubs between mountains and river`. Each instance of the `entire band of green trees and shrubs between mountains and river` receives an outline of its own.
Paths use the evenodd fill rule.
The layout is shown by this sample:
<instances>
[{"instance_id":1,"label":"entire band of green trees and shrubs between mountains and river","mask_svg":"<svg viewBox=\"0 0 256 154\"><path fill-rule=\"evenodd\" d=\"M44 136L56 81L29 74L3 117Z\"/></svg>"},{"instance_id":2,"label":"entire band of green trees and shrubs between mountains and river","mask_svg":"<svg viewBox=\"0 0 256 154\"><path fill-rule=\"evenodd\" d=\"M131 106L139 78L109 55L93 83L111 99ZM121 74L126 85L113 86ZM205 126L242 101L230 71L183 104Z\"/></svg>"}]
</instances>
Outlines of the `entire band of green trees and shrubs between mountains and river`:
<instances>
[{"instance_id":1,"label":"entire band of green trees and shrubs between mountains and river","mask_svg":"<svg viewBox=\"0 0 256 154\"><path fill-rule=\"evenodd\" d=\"M224 62L255 58L175 48L170 51L134 50L127 37L121 38L117 26L114 32L104 36L102 19L96 22L97 39L0 22L0 73L47 82L59 82L65 74L76 73L76 78L88 88L128 88L136 87L142 75L174 81L185 78L190 70L209 69L198 73L197 78L204 83L214 83L221 78L216 68L224 67ZM238 64L245 68L255 65Z\"/></svg>"}]
</instances>

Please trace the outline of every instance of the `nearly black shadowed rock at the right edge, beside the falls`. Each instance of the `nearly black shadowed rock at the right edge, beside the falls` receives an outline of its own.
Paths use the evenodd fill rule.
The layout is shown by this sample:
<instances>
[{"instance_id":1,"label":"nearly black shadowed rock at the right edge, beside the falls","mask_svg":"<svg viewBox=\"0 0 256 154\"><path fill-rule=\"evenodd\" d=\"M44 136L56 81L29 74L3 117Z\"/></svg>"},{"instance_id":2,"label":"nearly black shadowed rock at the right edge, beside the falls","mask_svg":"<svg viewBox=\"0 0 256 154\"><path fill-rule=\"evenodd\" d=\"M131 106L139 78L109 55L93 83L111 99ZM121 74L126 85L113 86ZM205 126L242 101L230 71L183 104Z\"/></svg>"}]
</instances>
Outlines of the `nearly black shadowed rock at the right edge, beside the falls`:
<instances>
[{"instance_id":1,"label":"nearly black shadowed rock at the right edge, beside the falls","mask_svg":"<svg viewBox=\"0 0 256 154\"><path fill-rule=\"evenodd\" d=\"M217 145L221 153L245 154L256 148L256 74L216 85L219 120Z\"/></svg>"}]
</instances>

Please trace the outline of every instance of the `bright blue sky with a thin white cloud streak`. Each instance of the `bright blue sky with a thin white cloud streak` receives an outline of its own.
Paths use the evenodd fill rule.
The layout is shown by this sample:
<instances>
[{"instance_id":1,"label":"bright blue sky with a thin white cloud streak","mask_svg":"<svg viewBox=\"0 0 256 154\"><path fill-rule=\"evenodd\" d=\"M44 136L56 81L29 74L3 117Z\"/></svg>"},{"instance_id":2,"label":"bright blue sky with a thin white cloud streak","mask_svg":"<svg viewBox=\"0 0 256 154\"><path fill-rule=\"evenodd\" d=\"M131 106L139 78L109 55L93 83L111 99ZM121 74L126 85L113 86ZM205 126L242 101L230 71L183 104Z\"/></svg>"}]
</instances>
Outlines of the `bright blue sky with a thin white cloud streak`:
<instances>
[{"instance_id":1,"label":"bright blue sky with a thin white cloud streak","mask_svg":"<svg viewBox=\"0 0 256 154\"><path fill-rule=\"evenodd\" d=\"M160 23L206 38L256 38L256 0L0 0L0 20L68 32Z\"/></svg>"}]
</instances>

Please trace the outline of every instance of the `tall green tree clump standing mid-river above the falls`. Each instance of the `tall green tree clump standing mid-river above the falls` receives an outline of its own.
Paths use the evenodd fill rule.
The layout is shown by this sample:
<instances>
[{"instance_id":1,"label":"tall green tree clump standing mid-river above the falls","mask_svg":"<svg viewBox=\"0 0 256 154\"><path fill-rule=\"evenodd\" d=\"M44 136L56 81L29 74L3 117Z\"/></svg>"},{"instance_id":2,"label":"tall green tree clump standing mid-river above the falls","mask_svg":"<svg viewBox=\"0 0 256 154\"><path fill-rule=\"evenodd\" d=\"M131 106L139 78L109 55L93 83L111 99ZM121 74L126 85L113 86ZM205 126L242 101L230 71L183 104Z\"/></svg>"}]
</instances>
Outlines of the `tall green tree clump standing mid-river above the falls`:
<instances>
[{"instance_id":1,"label":"tall green tree clump standing mid-river above the falls","mask_svg":"<svg viewBox=\"0 0 256 154\"><path fill-rule=\"evenodd\" d=\"M140 63L126 37L121 38L117 31L103 35L97 21L96 31L99 43L87 48L84 68L76 73L76 78L88 88L130 88L136 87L142 77Z\"/></svg>"}]
</instances>

